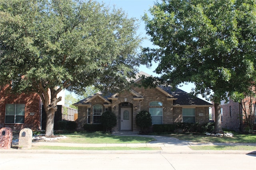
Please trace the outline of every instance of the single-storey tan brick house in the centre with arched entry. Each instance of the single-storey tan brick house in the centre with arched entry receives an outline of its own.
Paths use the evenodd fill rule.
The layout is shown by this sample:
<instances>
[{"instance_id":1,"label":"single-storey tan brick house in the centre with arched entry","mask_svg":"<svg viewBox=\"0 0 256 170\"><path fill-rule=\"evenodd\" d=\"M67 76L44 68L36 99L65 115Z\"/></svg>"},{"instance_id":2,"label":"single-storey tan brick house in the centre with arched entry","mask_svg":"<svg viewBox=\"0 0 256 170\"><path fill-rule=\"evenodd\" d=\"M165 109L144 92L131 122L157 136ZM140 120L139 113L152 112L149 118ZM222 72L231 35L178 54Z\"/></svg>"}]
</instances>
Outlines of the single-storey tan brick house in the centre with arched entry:
<instances>
[{"instance_id":1,"label":"single-storey tan brick house in the centre with arched entry","mask_svg":"<svg viewBox=\"0 0 256 170\"><path fill-rule=\"evenodd\" d=\"M135 82L140 83L140 80L137 78ZM136 114L142 110L150 112L152 124L208 123L209 107L213 106L169 86L147 89L133 87L116 94L97 93L73 105L78 106L78 128L84 124L99 124L102 113L109 110L117 117L117 125L112 129L114 131L139 131L135 119Z\"/></svg>"}]
</instances>

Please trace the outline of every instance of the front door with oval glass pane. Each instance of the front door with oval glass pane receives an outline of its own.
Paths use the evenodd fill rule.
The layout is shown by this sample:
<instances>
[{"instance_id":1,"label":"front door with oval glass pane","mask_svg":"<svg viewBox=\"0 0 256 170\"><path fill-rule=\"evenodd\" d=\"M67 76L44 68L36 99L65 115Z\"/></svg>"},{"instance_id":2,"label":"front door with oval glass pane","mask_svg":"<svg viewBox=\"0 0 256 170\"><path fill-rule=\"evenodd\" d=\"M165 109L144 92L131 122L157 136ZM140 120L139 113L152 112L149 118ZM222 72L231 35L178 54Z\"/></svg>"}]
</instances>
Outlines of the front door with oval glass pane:
<instances>
[{"instance_id":1,"label":"front door with oval glass pane","mask_svg":"<svg viewBox=\"0 0 256 170\"><path fill-rule=\"evenodd\" d=\"M121 130L132 130L132 108L121 108Z\"/></svg>"}]
</instances>

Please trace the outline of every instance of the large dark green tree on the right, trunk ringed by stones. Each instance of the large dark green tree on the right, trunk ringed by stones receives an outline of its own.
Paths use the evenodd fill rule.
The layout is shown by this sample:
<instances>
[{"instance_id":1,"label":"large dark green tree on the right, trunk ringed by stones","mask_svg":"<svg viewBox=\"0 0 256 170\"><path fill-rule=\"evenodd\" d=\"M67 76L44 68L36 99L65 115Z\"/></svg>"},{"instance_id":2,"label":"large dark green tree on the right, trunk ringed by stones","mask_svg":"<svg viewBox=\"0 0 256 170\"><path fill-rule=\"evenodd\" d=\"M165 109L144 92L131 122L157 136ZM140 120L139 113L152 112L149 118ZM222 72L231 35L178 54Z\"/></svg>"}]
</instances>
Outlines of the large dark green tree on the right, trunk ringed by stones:
<instances>
[{"instance_id":1,"label":"large dark green tree on the right, trunk ringed by stones","mask_svg":"<svg viewBox=\"0 0 256 170\"><path fill-rule=\"evenodd\" d=\"M255 78L256 2L162 0L150 13L143 19L158 47L144 49L144 58L159 62L162 82L193 82L194 94L212 100L214 131L222 132L220 101L249 89Z\"/></svg>"}]
</instances>

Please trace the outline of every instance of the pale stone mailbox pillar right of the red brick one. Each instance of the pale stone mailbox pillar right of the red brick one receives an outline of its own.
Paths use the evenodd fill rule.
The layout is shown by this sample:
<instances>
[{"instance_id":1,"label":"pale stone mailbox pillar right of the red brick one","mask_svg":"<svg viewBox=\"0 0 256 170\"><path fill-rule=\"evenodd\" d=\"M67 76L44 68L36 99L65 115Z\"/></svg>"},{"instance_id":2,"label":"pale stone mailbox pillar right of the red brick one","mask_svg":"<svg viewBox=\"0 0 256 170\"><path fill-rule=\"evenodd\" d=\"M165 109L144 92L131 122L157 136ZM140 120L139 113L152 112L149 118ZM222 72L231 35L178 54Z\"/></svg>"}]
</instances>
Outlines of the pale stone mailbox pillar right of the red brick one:
<instances>
[{"instance_id":1,"label":"pale stone mailbox pillar right of the red brick one","mask_svg":"<svg viewBox=\"0 0 256 170\"><path fill-rule=\"evenodd\" d=\"M33 132L29 128L21 129L19 135L19 149L30 149L32 147Z\"/></svg>"}]
</instances>

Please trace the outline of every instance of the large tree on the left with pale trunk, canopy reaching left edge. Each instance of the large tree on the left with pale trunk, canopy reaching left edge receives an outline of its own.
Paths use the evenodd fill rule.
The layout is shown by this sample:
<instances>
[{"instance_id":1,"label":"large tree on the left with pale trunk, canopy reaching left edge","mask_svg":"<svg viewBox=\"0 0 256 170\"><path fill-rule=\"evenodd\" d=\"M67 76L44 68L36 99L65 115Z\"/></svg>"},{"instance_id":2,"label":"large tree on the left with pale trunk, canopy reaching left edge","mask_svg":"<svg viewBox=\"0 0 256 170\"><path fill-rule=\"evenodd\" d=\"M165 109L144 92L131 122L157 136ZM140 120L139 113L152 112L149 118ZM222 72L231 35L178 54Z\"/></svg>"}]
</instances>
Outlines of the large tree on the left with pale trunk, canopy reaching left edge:
<instances>
[{"instance_id":1,"label":"large tree on the left with pale trunk, canopy reaching left edge","mask_svg":"<svg viewBox=\"0 0 256 170\"><path fill-rule=\"evenodd\" d=\"M38 93L53 136L61 90L128 86L139 64L137 26L93 0L0 0L1 85L13 80L12 91Z\"/></svg>"}]
</instances>

